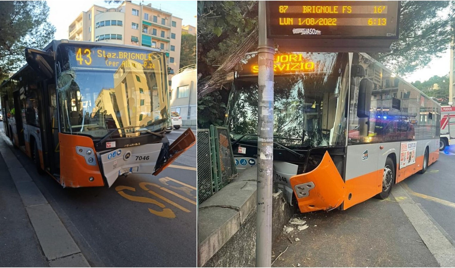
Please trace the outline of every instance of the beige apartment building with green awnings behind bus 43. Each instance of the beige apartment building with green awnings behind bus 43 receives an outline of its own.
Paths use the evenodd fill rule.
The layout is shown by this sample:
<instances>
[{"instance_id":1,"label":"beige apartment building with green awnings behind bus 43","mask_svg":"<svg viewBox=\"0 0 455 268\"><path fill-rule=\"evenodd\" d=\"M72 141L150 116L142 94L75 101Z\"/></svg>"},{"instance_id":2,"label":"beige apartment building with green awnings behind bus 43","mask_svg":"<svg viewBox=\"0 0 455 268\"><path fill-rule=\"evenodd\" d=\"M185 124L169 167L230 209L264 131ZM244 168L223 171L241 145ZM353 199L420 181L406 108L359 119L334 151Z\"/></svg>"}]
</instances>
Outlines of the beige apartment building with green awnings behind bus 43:
<instances>
[{"instance_id":1,"label":"beige apartment building with green awnings behind bus 43","mask_svg":"<svg viewBox=\"0 0 455 268\"><path fill-rule=\"evenodd\" d=\"M117 8L93 5L70 24L68 34L70 40L158 48L166 52L167 66L174 72L179 69L182 19L152 4L124 1Z\"/></svg>"}]
</instances>

